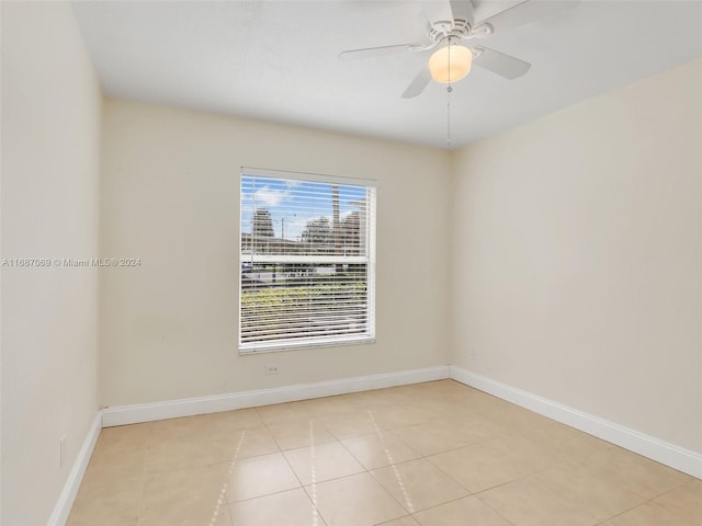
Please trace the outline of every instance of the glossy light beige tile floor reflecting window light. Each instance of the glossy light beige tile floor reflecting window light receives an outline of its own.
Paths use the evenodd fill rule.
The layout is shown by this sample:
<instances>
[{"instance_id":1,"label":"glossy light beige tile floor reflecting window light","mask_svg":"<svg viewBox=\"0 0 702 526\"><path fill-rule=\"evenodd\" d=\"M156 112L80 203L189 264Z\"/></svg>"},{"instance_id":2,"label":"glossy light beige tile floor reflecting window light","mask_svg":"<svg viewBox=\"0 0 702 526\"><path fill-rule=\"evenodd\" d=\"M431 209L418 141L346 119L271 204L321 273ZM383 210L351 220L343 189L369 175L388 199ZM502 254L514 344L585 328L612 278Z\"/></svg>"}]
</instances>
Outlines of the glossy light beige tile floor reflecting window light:
<instances>
[{"instance_id":1,"label":"glossy light beige tile floor reflecting window light","mask_svg":"<svg viewBox=\"0 0 702 526\"><path fill-rule=\"evenodd\" d=\"M69 526L702 526L702 481L452 380L102 431Z\"/></svg>"}]
</instances>

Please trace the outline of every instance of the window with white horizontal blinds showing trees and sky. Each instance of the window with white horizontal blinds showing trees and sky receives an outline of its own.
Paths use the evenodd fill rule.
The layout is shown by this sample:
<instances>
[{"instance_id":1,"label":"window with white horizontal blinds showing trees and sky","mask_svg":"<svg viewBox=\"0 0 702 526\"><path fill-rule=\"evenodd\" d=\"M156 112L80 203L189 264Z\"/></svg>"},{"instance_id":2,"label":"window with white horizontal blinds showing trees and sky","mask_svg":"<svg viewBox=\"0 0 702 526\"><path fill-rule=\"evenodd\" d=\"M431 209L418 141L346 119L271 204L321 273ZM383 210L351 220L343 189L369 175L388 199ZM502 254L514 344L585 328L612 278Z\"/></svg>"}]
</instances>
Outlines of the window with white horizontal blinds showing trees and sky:
<instances>
[{"instance_id":1,"label":"window with white horizontal blinds showing trees and sky","mask_svg":"<svg viewBox=\"0 0 702 526\"><path fill-rule=\"evenodd\" d=\"M245 169L239 352L375 338L375 187Z\"/></svg>"}]
</instances>

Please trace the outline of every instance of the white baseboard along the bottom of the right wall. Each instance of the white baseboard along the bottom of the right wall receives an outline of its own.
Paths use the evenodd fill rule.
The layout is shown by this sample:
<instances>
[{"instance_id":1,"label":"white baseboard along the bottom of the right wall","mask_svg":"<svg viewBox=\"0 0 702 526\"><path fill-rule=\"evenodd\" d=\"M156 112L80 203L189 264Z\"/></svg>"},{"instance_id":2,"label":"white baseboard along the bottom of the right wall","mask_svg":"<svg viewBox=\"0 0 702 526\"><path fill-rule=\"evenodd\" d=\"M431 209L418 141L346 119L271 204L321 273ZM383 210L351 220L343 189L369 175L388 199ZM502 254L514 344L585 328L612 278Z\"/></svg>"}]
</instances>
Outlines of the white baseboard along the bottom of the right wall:
<instances>
[{"instance_id":1,"label":"white baseboard along the bottom of the right wall","mask_svg":"<svg viewBox=\"0 0 702 526\"><path fill-rule=\"evenodd\" d=\"M454 365L451 378L702 479L702 455Z\"/></svg>"}]
</instances>

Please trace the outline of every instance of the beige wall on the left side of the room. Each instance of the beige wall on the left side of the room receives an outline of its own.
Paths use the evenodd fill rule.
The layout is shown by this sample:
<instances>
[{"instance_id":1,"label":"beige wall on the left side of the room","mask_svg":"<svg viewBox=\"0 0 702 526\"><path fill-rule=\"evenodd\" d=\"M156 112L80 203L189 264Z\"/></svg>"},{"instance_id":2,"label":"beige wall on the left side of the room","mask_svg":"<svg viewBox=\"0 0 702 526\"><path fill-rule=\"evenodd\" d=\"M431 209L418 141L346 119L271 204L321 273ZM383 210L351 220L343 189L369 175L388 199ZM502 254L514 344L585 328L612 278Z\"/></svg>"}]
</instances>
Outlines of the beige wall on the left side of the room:
<instances>
[{"instance_id":1,"label":"beige wall on the left side of the room","mask_svg":"<svg viewBox=\"0 0 702 526\"><path fill-rule=\"evenodd\" d=\"M102 95L80 32L67 3L1 9L2 258L94 256ZM43 525L97 415L97 272L2 267L1 322L0 523Z\"/></svg>"}]
</instances>

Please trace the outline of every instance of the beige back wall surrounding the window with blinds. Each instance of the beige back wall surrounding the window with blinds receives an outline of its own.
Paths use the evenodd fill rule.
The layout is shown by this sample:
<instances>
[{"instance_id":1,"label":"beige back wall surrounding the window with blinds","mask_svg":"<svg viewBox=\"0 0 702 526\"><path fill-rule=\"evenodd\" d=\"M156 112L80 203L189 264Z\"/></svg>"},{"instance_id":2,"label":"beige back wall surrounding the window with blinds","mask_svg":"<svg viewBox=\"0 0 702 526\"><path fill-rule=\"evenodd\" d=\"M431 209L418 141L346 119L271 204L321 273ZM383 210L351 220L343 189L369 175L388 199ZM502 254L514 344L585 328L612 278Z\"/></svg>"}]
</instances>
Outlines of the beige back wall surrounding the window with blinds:
<instances>
[{"instance_id":1,"label":"beige back wall surrounding the window with blinds","mask_svg":"<svg viewBox=\"0 0 702 526\"><path fill-rule=\"evenodd\" d=\"M101 274L101 404L446 363L446 152L122 101L103 130L102 252L141 266ZM377 179L376 344L238 355L242 165Z\"/></svg>"}]
</instances>

